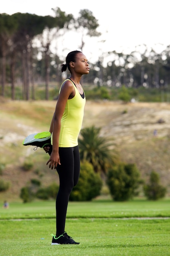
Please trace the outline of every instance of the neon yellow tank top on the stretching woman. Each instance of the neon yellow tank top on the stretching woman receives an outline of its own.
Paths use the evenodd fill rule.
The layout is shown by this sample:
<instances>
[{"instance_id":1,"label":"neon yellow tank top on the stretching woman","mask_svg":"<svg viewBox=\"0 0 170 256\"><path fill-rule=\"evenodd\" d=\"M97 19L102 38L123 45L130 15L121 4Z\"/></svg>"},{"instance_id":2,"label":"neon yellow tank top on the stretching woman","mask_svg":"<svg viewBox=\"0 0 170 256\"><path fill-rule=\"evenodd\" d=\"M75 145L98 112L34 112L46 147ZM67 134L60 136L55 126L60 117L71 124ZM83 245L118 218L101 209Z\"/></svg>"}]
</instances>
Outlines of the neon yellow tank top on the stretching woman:
<instances>
[{"instance_id":1,"label":"neon yellow tank top on the stretching woman","mask_svg":"<svg viewBox=\"0 0 170 256\"><path fill-rule=\"evenodd\" d=\"M71 81L70 79L66 79L66 80ZM59 147L62 147L62 148L77 146L78 135L82 128L86 97L84 94L84 99L83 99L79 91L77 90L76 86L74 85L74 83L73 83L73 86L75 88L75 96L72 99L67 100L64 114L61 119Z\"/></svg>"}]
</instances>

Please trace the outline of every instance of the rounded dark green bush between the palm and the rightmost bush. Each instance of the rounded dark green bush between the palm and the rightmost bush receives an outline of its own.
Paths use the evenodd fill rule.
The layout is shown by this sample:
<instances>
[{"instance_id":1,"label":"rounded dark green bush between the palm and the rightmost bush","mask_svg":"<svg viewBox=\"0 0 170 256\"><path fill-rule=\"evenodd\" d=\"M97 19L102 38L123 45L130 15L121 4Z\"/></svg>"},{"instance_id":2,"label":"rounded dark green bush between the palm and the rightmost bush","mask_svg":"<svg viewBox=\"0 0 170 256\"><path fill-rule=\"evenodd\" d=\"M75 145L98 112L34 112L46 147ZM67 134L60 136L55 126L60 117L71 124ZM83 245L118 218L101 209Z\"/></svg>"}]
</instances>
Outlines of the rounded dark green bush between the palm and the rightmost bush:
<instances>
[{"instance_id":1,"label":"rounded dark green bush between the palm and the rightmost bush","mask_svg":"<svg viewBox=\"0 0 170 256\"><path fill-rule=\"evenodd\" d=\"M137 195L141 182L140 173L135 164L120 163L109 169L107 184L115 201L127 201Z\"/></svg>"}]
</instances>

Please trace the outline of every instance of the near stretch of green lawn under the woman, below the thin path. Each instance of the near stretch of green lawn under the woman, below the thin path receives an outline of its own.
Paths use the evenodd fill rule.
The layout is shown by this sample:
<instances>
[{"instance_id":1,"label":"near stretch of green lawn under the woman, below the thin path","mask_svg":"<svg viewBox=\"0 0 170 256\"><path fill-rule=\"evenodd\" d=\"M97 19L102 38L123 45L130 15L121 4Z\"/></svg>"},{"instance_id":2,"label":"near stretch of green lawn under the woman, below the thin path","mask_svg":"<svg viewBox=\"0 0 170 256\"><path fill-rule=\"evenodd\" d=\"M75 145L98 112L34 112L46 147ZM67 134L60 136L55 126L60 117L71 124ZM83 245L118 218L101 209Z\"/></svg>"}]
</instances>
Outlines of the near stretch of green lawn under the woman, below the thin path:
<instances>
[{"instance_id":1,"label":"near stretch of green lawn under the woman, below the thin path","mask_svg":"<svg viewBox=\"0 0 170 256\"><path fill-rule=\"evenodd\" d=\"M68 219L80 245L51 246L55 220L1 221L1 255L170 255L170 220Z\"/></svg>"}]
</instances>

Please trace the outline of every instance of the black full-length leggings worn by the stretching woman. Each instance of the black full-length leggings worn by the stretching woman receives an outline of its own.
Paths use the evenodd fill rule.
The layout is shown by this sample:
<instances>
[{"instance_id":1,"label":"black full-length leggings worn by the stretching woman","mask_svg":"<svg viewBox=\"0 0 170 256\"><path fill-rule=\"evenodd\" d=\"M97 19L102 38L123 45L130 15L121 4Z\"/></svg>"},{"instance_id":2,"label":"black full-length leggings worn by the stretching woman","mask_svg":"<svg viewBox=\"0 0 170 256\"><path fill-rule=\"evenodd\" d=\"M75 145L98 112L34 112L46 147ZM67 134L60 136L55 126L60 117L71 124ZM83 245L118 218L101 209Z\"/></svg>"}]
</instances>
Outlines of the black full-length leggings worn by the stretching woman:
<instances>
[{"instance_id":1,"label":"black full-length leggings worn by the stretching woman","mask_svg":"<svg viewBox=\"0 0 170 256\"><path fill-rule=\"evenodd\" d=\"M78 183L80 172L79 148L59 148L60 163L57 173L60 179L60 188L56 198L56 236L64 233L66 212L70 193Z\"/></svg>"}]
</instances>

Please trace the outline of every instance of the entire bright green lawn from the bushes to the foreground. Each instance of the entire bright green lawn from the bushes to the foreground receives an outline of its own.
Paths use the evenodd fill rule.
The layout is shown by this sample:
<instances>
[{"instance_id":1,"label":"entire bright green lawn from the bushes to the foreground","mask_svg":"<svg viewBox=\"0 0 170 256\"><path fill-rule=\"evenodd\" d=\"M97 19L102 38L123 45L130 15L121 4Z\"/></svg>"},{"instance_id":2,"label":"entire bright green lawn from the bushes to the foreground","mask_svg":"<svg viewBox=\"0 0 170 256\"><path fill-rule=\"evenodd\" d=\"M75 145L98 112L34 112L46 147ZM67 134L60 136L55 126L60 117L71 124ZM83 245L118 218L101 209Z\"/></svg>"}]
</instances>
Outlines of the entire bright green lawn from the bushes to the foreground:
<instances>
[{"instance_id":1,"label":"entire bright green lawn from the bushes to the foreground","mask_svg":"<svg viewBox=\"0 0 170 256\"><path fill-rule=\"evenodd\" d=\"M0 255L168 256L170 200L69 202L66 232L80 245L51 246L55 202L0 208Z\"/></svg>"}]
</instances>

